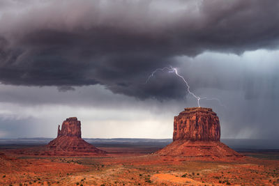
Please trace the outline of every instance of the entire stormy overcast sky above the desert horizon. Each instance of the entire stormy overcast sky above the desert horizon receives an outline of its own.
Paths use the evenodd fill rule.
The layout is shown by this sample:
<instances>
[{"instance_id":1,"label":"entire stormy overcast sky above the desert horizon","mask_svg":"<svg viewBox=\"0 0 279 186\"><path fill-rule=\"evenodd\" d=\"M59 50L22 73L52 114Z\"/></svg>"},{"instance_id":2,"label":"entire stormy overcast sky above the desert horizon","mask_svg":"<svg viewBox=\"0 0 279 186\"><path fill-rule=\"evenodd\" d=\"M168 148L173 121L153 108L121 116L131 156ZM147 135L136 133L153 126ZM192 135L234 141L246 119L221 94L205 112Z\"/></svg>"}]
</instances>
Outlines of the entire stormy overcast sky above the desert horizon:
<instances>
[{"instance_id":1,"label":"entire stormy overcast sky above the desert horizon","mask_svg":"<svg viewBox=\"0 0 279 186\"><path fill-rule=\"evenodd\" d=\"M279 139L277 0L0 0L0 138L172 138L197 107L222 138ZM217 100L218 99L218 100Z\"/></svg>"}]
</instances>

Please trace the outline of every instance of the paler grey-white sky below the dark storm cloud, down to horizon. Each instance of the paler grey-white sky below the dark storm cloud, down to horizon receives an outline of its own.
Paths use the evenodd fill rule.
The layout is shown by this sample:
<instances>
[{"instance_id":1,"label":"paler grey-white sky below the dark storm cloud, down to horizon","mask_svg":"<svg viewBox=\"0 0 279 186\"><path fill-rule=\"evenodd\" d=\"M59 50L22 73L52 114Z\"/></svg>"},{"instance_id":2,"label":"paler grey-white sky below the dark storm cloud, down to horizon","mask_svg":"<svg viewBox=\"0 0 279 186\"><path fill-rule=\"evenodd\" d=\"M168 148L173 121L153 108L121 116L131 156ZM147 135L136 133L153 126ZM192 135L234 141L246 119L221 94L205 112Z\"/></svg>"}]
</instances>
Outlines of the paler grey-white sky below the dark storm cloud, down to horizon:
<instances>
[{"instance_id":1,"label":"paler grey-white sky below the dark storm cloud, down to horizon","mask_svg":"<svg viewBox=\"0 0 279 186\"><path fill-rule=\"evenodd\" d=\"M222 138L278 140L278 58L279 51L258 50L242 56L204 53L194 59L177 60L191 89L196 87L195 94L218 98L225 105L216 100L200 102L218 114ZM171 75L158 72L150 84L159 86L155 82ZM161 90L165 95L184 94L183 87ZM70 116L82 121L83 137L171 138L173 116L184 107L197 107L197 100L190 95L187 99L138 100L100 85L74 88L59 92L55 86L1 84L0 138L55 137L57 125Z\"/></svg>"}]
</instances>

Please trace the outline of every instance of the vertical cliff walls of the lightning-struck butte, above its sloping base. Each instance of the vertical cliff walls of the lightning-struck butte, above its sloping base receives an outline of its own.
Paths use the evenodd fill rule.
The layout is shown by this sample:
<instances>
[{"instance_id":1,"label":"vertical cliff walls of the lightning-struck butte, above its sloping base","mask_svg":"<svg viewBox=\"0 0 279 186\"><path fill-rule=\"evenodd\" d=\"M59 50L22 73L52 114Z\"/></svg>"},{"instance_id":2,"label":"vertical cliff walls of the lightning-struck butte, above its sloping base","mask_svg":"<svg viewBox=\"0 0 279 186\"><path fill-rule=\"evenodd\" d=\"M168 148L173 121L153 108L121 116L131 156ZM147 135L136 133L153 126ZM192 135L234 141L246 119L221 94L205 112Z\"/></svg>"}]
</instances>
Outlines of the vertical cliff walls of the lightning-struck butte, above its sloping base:
<instances>
[{"instance_id":1,"label":"vertical cliff walls of the lightning-struck butte, above its sloping base","mask_svg":"<svg viewBox=\"0 0 279 186\"><path fill-rule=\"evenodd\" d=\"M212 109L194 107L174 116L175 140L220 141L219 118Z\"/></svg>"}]
</instances>

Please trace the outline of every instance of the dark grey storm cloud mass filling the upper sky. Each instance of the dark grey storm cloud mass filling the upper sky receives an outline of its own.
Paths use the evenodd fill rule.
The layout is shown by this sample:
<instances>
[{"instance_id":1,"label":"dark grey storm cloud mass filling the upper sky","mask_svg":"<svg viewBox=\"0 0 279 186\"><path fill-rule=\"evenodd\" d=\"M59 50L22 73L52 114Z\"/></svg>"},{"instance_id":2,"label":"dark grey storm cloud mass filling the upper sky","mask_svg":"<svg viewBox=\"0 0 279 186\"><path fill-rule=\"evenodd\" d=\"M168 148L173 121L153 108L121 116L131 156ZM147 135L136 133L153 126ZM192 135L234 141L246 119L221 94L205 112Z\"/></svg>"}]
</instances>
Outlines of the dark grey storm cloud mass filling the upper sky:
<instances>
[{"instance_id":1,"label":"dark grey storm cloud mass filling the upper sky","mask_svg":"<svg viewBox=\"0 0 279 186\"><path fill-rule=\"evenodd\" d=\"M278 10L277 0L2 1L0 82L181 98L173 74L146 85L149 73L176 56L277 49Z\"/></svg>"}]
</instances>

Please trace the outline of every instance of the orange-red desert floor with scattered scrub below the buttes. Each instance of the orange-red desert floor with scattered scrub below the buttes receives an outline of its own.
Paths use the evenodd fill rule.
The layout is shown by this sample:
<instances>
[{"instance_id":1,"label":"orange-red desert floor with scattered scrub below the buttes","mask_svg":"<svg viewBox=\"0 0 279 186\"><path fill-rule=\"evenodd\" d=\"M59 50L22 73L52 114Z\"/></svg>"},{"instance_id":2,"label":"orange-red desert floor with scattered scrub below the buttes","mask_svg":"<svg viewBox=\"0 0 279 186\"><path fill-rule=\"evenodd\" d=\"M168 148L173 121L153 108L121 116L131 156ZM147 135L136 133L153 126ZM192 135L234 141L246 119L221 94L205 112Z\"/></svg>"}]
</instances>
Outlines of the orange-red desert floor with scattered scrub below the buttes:
<instances>
[{"instance_id":1,"label":"orange-red desert floor with scattered scrub below the buttes","mask_svg":"<svg viewBox=\"0 0 279 186\"><path fill-rule=\"evenodd\" d=\"M102 157L15 155L2 162L0 185L279 185L279 152L206 162L152 154L149 147L99 147Z\"/></svg>"}]
</instances>

